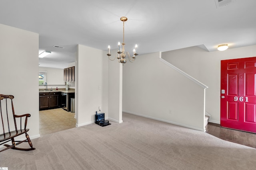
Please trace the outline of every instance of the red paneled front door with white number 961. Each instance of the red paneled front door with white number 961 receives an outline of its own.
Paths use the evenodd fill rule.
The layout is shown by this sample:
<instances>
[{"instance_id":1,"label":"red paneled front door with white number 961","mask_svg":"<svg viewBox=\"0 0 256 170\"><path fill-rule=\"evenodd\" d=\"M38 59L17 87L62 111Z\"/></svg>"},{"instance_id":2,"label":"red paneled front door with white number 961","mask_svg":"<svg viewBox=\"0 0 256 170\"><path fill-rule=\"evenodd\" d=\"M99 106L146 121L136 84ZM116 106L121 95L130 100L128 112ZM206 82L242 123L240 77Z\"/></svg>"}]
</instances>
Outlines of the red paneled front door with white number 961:
<instances>
[{"instance_id":1,"label":"red paneled front door with white number 961","mask_svg":"<svg viewBox=\"0 0 256 170\"><path fill-rule=\"evenodd\" d=\"M256 57L221 61L220 126L256 133Z\"/></svg>"}]
</instances>

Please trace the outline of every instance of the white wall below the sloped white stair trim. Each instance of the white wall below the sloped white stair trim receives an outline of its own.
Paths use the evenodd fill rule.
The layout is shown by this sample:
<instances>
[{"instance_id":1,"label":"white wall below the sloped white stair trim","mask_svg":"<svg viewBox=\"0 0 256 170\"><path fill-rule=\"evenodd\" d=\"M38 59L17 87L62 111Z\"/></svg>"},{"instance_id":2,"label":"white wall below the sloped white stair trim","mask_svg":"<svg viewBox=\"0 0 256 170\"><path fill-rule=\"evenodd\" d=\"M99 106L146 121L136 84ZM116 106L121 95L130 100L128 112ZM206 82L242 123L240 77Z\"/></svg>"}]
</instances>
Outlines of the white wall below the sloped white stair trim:
<instances>
[{"instance_id":1,"label":"white wall below the sloped white stair trim","mask_svg":"<svg viewBox=\"0 0 256 170\"><path fill-rule=\"evenodd\" d=\"M204 131L204 88L162 63L160 53L123 66L123 111Z\"/></svg>"}]
</instances>

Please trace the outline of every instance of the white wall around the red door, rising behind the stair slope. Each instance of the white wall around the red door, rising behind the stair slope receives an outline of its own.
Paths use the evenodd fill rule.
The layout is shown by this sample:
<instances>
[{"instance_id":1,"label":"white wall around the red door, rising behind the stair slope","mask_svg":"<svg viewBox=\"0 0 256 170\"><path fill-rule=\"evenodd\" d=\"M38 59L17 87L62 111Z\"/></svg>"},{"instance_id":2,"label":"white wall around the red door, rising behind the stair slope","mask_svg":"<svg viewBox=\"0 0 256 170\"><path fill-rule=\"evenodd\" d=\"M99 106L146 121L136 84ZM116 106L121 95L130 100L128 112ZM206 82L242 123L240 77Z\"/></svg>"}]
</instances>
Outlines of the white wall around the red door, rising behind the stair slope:
<instances>
[{"instance_id":1,"label":"white wall around the red door, rising behind the stair slope","mask_svg":"<svg viewBox=\"0 0 256 170\"><path fill-rule=\"evenodd\" d=\"M188 47L162 53L162 58L190 76L206 84L206 111L211 122L220 123L220 61L256 56L256 45L207 52L198 47Z\"/></svg>"}]
</instances>

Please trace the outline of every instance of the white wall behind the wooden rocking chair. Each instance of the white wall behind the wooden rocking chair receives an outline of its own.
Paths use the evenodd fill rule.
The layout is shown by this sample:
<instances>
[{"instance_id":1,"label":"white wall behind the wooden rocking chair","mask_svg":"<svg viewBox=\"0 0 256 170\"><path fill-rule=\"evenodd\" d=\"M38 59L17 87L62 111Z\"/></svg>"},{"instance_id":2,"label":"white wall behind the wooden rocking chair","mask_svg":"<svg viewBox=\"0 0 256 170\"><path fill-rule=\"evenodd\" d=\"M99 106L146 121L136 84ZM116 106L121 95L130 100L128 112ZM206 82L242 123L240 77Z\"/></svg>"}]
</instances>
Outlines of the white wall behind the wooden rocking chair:
<instances>
[{"instance_id":1,"label":"white wall behind the wooden rocking chair","mask_svg":"<svg viewBox=\"0 0 256 170\"><path fill-rule=\"evenodd\" d=\"M38 42L37 33L0 24L0 94L14 96L17 115L31 114L27 124L30 139L40 136Z\"/></svg>"}]
</instances>

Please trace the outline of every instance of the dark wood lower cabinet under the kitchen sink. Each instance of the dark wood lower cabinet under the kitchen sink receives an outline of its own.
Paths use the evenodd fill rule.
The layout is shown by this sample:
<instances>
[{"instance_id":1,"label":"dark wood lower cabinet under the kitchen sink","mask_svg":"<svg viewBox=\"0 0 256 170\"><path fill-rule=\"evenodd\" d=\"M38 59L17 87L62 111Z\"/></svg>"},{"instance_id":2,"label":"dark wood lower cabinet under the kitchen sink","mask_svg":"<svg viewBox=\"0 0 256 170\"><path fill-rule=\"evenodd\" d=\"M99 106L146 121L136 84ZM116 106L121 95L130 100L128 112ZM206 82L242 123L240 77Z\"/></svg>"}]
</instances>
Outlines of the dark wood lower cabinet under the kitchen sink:
<instances>
[{"instance_id":1,"label":"dark wood lower cabinet under the kitchen sink","mask_svg":"<svg viewBox=\"0 0 256 170\"><path fill-rule=\"evenodd\" d=\"M39 110L60 107L60 92L39 93Z\"/></svg>"}]
</instances>

